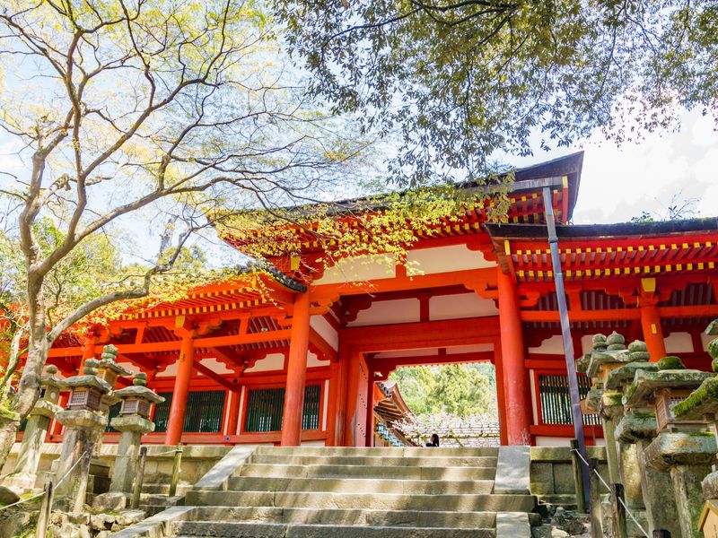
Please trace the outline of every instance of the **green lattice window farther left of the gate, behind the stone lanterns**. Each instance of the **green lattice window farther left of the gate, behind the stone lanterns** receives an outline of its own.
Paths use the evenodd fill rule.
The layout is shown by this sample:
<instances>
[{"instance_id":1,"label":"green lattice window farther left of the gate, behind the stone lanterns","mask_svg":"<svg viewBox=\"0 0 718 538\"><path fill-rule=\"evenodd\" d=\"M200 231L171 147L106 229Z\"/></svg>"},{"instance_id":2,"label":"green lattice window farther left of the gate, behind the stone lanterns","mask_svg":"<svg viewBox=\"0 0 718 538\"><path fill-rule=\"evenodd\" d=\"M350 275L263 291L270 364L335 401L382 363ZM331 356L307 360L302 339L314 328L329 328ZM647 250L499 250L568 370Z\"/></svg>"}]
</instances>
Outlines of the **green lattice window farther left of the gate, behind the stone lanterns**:
<instances>
[{"instance_id":1,"label":"green lattice window farther left of the gate, behind the stone lanterns","mask_svg":"<svg viewBox=\"0 0 718 538\"><path fill-rule=\"evenodd\" d=\"M154 431L167 431L167 421L170 420L172 406L172 393L159 393L164 398L162 404L157 404L154 411ZM222 430L224 416L223 390L192 391L187 396L185 410L185 423L182 431L192 433L216 433Z\"/></svg>"}]
</instances>

